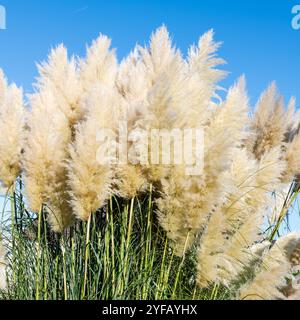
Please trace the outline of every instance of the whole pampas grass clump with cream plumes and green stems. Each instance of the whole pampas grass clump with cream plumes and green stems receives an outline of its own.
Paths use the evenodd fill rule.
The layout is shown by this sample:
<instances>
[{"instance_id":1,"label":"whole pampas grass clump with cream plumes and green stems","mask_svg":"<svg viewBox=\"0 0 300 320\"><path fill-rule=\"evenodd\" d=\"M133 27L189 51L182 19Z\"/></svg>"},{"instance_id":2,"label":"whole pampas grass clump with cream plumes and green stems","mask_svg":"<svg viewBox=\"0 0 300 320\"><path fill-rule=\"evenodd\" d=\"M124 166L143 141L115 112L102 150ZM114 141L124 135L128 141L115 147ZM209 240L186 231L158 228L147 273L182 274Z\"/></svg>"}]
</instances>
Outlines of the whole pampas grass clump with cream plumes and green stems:
<instances>
[{"instance_id":1,"label":"whole pampas grass clump with cream plumes and green stems","mask_svg":"<svg viewBox=\"0 0 300 320\"><path fill-rule=\"evenodd\" d=\"M299 295L287 281L298 234L278 239L299 194L296 102L285 106L272 84L252 113L245 76L223 99L213 36L185 58L163 26L121 63L104 35L85 58L60 45L39 65L26 111L1 73L0 180L14 186L3 297ZM153 129L201 129L202 171L163 163L161 148L155 163Z\"/></svg>"}]
</instances>

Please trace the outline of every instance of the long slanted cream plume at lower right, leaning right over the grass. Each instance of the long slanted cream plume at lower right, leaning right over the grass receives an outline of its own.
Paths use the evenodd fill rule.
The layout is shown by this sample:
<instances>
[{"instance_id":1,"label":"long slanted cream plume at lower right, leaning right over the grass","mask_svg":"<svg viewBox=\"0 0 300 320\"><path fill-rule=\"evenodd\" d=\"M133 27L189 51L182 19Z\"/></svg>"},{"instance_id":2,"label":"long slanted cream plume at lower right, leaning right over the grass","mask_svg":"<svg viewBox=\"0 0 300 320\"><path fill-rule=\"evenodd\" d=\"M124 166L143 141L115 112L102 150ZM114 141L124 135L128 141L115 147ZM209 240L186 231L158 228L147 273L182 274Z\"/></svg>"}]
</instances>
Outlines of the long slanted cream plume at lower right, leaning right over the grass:
<instances>
[{"instance_id":1,"label":"long slanted cream plume at lower right, leaning right over the grass","mask_svg":"<svg viewBox=\"0 0 300 320\"><path fill-rule=\"evenodd\" d=\"M263 155L257 165L248 172L246 179L240 180L236 185L240 198L234 199L234 195L233 202L224 208L227 232L233 233L224 243L223 258L218 265L220 279L225 284L238 276L253 260L249 248L261 239L261 228L267 215L270 193L281 186L280 179L285 170L285 162L280 160L280 155L279 148Z\"/></svg>"}]
</instances>

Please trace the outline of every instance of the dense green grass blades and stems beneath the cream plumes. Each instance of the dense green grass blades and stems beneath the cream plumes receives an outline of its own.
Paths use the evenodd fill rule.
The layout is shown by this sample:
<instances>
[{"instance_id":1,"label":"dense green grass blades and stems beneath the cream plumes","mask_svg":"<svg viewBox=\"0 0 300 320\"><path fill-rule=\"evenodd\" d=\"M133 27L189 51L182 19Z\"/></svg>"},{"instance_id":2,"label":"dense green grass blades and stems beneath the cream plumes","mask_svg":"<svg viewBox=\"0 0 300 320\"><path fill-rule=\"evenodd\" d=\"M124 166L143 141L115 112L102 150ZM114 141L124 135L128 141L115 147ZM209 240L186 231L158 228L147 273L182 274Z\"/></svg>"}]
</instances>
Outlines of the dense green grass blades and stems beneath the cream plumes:
<instances>
[{"instance_id":1,"label":"dense green grass blades and stems beneath the cream plumes","mask_svg":"<svg viewBox=\"0 0 300 320\"><path fill-rule=\"evenodd\" d=\"M195 250L174 255L155 221L151 192L131 200L112 197L91 216L59 235L46 211L26 209L21 181L7 196L3 221L8 249L7 290L1 299L224 299L229 290L196 286ZM40 218L39 218L40 217ZM87 240L88 239L88 240Z\"/></svg>"}]
</instances>

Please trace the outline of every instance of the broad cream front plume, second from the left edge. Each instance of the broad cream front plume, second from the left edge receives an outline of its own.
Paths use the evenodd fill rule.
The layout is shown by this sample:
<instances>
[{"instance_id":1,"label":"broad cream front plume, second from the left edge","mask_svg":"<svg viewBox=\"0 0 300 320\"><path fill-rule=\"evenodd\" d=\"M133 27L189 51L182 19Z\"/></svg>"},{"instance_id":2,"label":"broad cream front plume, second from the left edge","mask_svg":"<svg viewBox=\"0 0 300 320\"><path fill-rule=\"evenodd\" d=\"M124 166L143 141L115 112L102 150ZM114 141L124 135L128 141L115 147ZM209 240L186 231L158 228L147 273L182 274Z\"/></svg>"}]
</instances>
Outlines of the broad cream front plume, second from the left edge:
<instances>
[{"instance_id":1,"label":"broad cream front plume, second from the left edge","mask_svg":"<svg viewBox=\"0 0 300 320\"><path fill-rule=\"evenodd\" d=\"M32 95L30 103L23 167L30 207L40 212L43 205L54 201L64 189L66 146L71 130L68 118L58 108L50 90ZM70 223L69 209L54 212L50 205L49 213L54 214L50 218L54 230L62 230Z\"/></svg>"}]
</instances>

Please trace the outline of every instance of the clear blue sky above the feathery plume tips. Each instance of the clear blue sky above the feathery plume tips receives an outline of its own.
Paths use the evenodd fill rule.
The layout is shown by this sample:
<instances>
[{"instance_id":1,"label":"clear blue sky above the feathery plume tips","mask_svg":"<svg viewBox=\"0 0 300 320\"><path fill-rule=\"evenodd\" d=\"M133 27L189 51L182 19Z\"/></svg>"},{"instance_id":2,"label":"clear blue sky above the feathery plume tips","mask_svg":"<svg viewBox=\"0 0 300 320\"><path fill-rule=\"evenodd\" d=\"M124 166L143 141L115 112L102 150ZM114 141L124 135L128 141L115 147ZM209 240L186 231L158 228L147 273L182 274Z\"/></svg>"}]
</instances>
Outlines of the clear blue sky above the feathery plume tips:
<instances>
[{"instance_id":1,"label":"clear blue sky above the feathery plume tips","mask_svg":"<svg viewBox=\"0 0 300 320\"><path fill-rule=\"evenodd\" d=\"M0 67L30 91L35 63L61 42L70 53L83 55L101 32L113 39L121 59L163 23L184 53L214 28L231 72L224 86L244 73L254 103L276 80L281 92L298 97L300 105L300 30L291 26L296 4L300 0L0 0L7 11Z\"/></svg>"}]
</instances>

